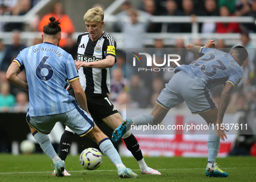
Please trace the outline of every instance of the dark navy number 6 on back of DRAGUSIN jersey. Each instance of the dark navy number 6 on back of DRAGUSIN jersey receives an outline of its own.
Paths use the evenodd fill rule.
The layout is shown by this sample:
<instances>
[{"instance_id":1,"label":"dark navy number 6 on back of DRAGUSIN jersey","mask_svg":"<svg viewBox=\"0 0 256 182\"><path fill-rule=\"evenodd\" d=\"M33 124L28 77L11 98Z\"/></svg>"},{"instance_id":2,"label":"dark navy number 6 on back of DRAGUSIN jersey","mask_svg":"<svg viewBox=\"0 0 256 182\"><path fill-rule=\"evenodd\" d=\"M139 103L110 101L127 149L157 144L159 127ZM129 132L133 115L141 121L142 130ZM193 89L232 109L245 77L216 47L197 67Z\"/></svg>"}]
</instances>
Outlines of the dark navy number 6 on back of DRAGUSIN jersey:
<instances>
[{"instance_id":1,"label":"dark navy number 6 on back of DRAGUSIN jersey","mask_svg":"<svg viewBox=\"0 0 256 182\"><path fill-rule=\"evenodd\" d=\"M45 64L49 57L50 56L44 56L36 67L36 77L42 81L48 81L53 76L52 67L49 64Z\"/></svg>"}]
</instances>

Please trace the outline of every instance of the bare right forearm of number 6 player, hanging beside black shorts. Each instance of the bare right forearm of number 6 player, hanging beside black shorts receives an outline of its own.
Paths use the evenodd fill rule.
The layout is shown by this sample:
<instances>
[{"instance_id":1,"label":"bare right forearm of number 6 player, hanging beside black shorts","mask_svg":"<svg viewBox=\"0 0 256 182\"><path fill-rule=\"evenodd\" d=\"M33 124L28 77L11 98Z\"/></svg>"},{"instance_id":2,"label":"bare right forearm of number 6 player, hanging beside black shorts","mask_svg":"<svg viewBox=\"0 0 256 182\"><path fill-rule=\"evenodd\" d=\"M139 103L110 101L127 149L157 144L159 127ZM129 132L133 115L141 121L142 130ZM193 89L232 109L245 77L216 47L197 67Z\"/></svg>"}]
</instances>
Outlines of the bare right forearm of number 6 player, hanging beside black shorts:
<instances>
[{"instance_id":1,"label":"bare right forearm of number 6 player, hanging beside black shorts","mask_svg":"<svg viewBox=\"0 0 256 182\"><path fill-rule=\"evenodd\" d=\"M74 80L74 81L70 82L70 84L71 84L72 88L74 89L75 97L76 97L78 104L80 105L80 107L82 109L84 109L84 111L89 113L88 108L87 108L86 96L85 96L84 90L81 87L80 81Z\"/></svg>"}]
</instances>

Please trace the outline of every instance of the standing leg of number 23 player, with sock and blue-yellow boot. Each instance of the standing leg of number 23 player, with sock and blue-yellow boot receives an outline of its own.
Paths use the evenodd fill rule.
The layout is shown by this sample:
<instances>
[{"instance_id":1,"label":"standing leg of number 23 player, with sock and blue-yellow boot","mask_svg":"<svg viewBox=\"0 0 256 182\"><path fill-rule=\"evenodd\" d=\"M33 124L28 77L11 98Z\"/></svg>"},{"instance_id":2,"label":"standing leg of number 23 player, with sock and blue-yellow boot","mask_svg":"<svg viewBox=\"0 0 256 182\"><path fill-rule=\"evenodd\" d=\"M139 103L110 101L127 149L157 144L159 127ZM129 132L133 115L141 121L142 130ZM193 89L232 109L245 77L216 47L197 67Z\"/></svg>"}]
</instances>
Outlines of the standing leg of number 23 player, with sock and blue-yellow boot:
<instances>
[{"instance_id":1,"label":"standing leg of number 23 player, with sock and blue-yellow boot","mask_svg":"<svg viewBox=\"0 0 256 182\"><path fill-rule=\"evenodd\" d=\"M218 166L216 166L216 157L220 149L220 136L217 137L215 130L215 123L217 121L218 109L215 106L214 109L199 113L202 118L207 122L209 127L209 135L207 140L208 147L208 164L206 166L205 174L206 176L215 176L215 177L227 177L227 172L222 171Z\"/></svg>"}]
</instances>

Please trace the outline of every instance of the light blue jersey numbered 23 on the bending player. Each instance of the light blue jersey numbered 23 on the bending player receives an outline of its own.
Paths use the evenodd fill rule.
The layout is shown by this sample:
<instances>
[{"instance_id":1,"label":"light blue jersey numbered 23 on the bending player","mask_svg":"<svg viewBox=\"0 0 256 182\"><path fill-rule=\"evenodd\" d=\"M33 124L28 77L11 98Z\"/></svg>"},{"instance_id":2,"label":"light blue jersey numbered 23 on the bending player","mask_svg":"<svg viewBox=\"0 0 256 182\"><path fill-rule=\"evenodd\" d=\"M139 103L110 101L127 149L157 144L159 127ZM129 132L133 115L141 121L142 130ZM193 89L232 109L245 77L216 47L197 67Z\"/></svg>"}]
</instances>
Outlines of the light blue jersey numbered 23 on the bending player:
<instances>
[{"instance_id":1,"label":"light blue jersey numbered 23 on the bending player","mask_svg":"<svg viewBox=\"0 0 256 182\"><path fill-rule=\"evenodd\" d=\"M237 86L242 80L243 71L230 54L217 49L202 47L200 56L189 65L176 67L175 72L183 70L206 88L226 82Z\"/></svg>"}]
</instances>

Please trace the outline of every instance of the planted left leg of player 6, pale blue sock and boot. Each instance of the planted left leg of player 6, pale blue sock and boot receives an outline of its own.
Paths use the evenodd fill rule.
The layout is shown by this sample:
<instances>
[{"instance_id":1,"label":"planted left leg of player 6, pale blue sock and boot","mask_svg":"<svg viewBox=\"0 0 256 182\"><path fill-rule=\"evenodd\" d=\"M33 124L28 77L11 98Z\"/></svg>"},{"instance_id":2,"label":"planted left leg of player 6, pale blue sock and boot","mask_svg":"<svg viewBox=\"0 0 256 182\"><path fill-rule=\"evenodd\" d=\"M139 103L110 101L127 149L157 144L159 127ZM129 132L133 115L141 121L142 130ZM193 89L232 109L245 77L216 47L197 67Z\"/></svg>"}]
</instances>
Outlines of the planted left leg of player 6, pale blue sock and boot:
<instances>
[{"instance_id":1,"label":"planted left leg of player 6, pale blue sock and boot","mask_svg":"<svg viewBox=\"0 0 256 182\"><path fill-rule=\"evenodd\" d=\"M47 117L47 116L45 116L45 117ZM54 148L52 147L52 144L51 144L48 134L42 134L42 133L38 132L35 128L33 128L32 126L37 126L36 128L40 128L40 127L38 127L38 125L36 125L36 121L34 120L34 118L30 118L29 115L27 115L27 122L29 124L29 128L30 128L30 131L31 131L33 137L39 143L39 145L42 148L42 150L44 151L44 153L47 156L49 156L50 159L52 159L52 162L54 163L55 176L58 176L58 177L64 176L65 163L62 162L62 160L59 158L59 156L55 152Z\"/></svg>"}]
</instances>

